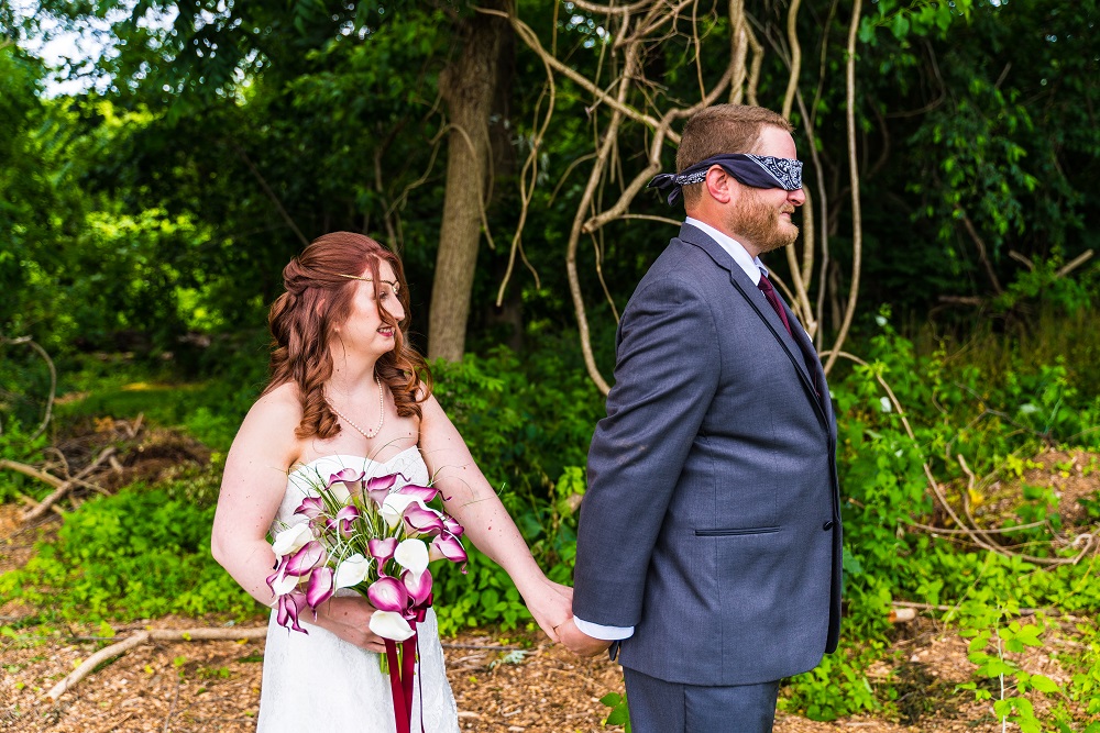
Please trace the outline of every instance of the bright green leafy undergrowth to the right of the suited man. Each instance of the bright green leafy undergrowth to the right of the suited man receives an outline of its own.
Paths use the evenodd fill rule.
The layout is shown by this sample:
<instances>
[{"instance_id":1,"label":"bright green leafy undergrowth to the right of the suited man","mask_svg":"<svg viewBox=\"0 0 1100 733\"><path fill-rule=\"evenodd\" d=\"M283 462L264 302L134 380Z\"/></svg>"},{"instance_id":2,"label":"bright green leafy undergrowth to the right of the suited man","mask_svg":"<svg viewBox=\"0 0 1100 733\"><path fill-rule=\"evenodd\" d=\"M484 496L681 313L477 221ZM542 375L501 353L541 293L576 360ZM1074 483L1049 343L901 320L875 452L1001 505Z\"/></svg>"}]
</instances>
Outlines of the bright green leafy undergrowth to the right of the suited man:
<instances>
[{"instance_id":1,"label":"bright green leafy undergrowth to the right of the suited man","mask_svg":"<svg viewBox=\"0 0 1100 733\"><path fill-rule=\"evenodd\" d=\"M889 315L888 310L880 313L877 333L859 349L868 355L867 365L833 380L847 613L838 654L790 680L783 702L822 720L889 711L895 704L895 682L872 684L866 674L887 648L892 633L888 612L895 599L958 604L959 611L948 614L947 621L971 636L1000 638L1008 652L1033 643L1038 633L1035 624L1014 620L1023 608L1058 608L1084 617L1100 610L1100 590L1091 582L1096 557L1041 569L1015 555L960 552L913 526L927 524L933 510L925 462L942 485L965 479L955 459L959 455L979 475L1000 469L1019 480L1024 470L1037 466L1019 456L1034 455L1049 443L1072 440L1094 448L1100 401L1094 393L1078 390L1084 376L1064 362L1052 366L1034 360L1044 349L1002 352L996 363L980 366L948 354L943 345L924 355L893 330ZM1082 330L1081 336L1087 334ZM882 382L891 387L903 413ZM1024 486L1016 521L1042 524L1013 533L1010 541L1024 543L1021 546L1031 554L1072 557L1072 546L1055 543L1055 535L1069 530L1062 526L1056 506L1049 487ZM1053 682L1027 675L985 646L975 652L979 653L985 655L980 662L983 665L981 676L1012 677L1010 692L998 701L998 714L1022 728L1037 725L1030 696L1057 692ZM1084 691L1092 690L1091 684L1085 675L1081 690L1062 692L1091 695ZM987 687L976 682L974 689L982 692ZM1063 720L1058 710L1050 720Z\"/></svg>"}]
</instances>

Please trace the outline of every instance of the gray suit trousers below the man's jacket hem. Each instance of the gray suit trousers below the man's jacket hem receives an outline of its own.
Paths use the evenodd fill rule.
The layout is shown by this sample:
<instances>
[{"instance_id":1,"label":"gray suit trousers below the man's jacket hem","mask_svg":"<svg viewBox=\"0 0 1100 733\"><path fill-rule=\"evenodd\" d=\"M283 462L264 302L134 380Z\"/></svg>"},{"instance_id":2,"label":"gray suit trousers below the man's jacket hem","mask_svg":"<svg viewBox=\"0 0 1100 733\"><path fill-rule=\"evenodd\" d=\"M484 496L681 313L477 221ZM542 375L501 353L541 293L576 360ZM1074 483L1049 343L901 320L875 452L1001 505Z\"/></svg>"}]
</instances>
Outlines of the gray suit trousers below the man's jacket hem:
<instances>
[{"instance_id":1,"label":"gray suit trousers below the man's jacket hem","mask_svg":"<svg viewBox=\"0 0 1100 733\"><path fill-rule=\"evenodd\" d=\"M771 733L779 681L704 687L623 668L634 733Z\"/></svg>"}]
</instances>

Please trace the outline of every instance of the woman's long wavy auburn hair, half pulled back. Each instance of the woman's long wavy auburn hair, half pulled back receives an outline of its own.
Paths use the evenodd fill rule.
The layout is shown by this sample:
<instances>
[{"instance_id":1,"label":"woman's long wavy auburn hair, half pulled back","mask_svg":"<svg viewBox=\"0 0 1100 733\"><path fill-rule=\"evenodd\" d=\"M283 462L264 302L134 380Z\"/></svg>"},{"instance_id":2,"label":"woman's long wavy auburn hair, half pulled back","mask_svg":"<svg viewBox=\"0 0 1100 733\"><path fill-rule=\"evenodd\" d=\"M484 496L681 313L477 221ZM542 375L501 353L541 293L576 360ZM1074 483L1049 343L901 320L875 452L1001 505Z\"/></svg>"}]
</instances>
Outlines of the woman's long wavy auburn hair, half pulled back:
<instances>
[{"instance_id":1,"label":"woman's long wavy auburn hair, half pulled back","mask_svg":"<svg viewBox=\"0 0 1100 733\"><path fill-rule=\"evenodd\" d=\"M398 322L378 299L378 265L389 263L397 277L397 298L405 309ZM289 381L298 386L301 422L298 438L324 440L340 433L340 423L324 399L324 382L332 376L329 345L336 327L351 314L355 277L370 270L378 315L394 329L394 348L374 367L389 387L397 414L421 417L420 403L431 395L431 374L424 357L408 343L410 319L405 268L396 254L363 234L332 232L314 240L283 268L286 292L272 304L267 325L272 332L271 380L264 395ZM351 277L349 277L351 276Z\"/></svg>"}]
</instances>

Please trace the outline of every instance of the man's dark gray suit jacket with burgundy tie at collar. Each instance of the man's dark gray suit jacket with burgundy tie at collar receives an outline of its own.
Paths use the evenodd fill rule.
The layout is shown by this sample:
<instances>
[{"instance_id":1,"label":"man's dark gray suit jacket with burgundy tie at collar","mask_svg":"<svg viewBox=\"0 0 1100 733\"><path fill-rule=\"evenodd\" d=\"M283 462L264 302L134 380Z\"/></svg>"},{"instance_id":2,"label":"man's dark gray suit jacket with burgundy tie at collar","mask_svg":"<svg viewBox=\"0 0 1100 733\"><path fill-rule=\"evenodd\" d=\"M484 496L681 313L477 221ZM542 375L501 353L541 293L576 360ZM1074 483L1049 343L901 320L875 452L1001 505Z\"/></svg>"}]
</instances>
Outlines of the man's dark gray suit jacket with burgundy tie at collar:
<instances>
[{"instance_id":1,"label":"man's dark gray suit jacket with burgundy tie at collar","mask_svg":"<svg viewBox=\"0 0 1100 733\"><path fill-rule=\"evenodd\" d=\"M684 224L623 313L581 504L573 610L636 626L624 666L751 685L836 648L836 422L816 356L813 370L745 271Z\"/></svg>"}]
</instances>

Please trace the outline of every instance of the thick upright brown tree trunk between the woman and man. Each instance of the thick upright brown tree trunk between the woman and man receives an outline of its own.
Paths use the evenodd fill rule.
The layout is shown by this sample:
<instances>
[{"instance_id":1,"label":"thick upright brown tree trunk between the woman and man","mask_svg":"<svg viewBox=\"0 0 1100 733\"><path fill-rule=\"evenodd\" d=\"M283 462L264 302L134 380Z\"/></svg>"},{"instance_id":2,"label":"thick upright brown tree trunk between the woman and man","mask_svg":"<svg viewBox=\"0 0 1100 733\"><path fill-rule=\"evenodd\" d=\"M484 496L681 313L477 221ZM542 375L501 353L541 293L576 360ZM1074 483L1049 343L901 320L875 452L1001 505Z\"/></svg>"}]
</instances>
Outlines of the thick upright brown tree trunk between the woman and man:
<instances>
[{"instance_id":1,"label":"thick upright brown tree trunk between the woman and man","mask_svg":"<svg viewBox=\"0 0 1100 733\"><path fill-rule=\"evenodd\" d=\"M462 45L439 77L453 127L428 319L428 357L450 362L460 360L465 347L490 175L490 113L502 38L512 29L505 19L477 13L460 21L457 31Z\"/></svg>"}]
</instances>

